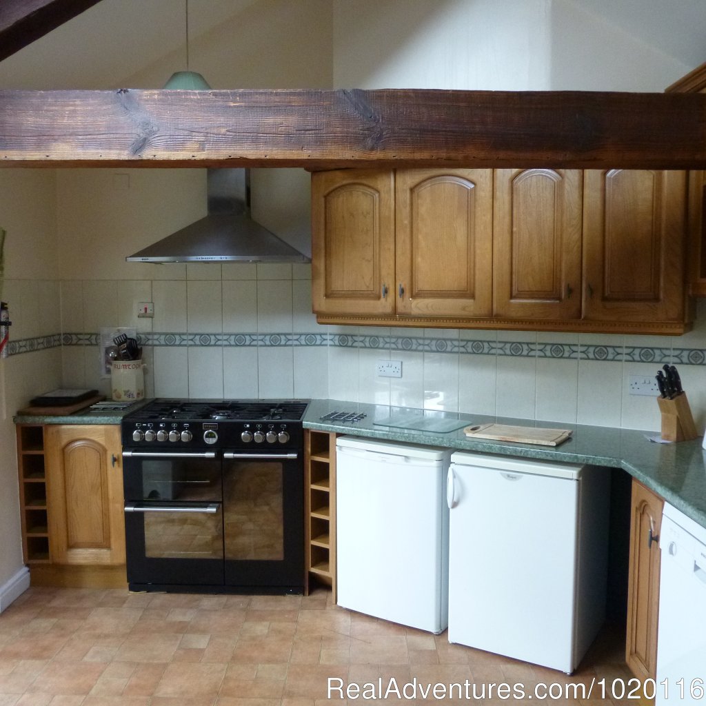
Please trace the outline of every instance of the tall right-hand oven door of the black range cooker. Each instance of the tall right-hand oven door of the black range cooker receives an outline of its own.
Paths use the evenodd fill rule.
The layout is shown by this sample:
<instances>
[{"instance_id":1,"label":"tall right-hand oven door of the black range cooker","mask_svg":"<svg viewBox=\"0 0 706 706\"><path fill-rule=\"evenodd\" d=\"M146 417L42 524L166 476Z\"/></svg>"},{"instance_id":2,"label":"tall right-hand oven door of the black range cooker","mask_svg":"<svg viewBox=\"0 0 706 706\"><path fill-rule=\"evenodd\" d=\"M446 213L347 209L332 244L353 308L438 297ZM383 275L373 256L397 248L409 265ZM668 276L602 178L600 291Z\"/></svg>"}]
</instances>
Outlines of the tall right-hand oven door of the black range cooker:
<instances>
[{"instance_id":1,"label":"tall right-hand oven door of the black range cooker","mask_svg":"<svg viewBox=\"0 0 706 706\"><path fill-rule=\"evenodd\" d=\"M301 453L223 454L226 585L304 588Z\"/></svg>"}]
</instances>

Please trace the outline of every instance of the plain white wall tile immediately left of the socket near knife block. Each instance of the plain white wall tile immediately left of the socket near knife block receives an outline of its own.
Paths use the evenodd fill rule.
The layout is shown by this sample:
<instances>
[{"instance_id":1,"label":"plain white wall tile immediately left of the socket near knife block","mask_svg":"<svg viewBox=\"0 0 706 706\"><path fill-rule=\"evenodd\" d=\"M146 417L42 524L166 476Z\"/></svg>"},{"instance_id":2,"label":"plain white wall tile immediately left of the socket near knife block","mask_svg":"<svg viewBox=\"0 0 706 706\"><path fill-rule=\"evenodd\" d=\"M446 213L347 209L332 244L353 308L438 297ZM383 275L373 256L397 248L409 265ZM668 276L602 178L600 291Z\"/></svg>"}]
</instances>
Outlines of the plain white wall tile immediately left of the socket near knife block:
<instances>
[{"instance_id":1,"label":"plain white wall tile immediately left of the socket near knife block","mask_svg":"<svg viewBox=\"0 0 706 706\"><path fill-rule=\"evenodd\" d=\"M578 363L578 424L620 426L623 364L580 360Z\"/></svg>"}]
</instances>

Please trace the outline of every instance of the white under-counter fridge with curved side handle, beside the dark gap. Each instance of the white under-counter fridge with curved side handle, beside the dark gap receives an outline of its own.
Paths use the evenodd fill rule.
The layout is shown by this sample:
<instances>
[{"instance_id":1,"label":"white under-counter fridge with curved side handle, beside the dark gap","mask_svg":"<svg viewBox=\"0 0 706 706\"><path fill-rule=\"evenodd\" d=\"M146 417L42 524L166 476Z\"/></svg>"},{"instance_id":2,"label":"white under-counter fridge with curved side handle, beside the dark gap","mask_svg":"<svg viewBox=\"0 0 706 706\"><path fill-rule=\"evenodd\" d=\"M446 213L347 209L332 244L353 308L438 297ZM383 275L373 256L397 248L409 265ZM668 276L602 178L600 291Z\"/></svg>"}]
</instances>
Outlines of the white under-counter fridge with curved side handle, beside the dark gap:
<instances>
[{"instance_id":1,"label":"white under-counter fridge with curved side handle, beside the dark gap","mask_svg":"<svg viewBox=\"0 0 706 706\"><path fill-rule=\"evenodd\" d=\"M570 674L604 623L610 474L454 453L448 639Z\"/></svg>"}]
</instances>

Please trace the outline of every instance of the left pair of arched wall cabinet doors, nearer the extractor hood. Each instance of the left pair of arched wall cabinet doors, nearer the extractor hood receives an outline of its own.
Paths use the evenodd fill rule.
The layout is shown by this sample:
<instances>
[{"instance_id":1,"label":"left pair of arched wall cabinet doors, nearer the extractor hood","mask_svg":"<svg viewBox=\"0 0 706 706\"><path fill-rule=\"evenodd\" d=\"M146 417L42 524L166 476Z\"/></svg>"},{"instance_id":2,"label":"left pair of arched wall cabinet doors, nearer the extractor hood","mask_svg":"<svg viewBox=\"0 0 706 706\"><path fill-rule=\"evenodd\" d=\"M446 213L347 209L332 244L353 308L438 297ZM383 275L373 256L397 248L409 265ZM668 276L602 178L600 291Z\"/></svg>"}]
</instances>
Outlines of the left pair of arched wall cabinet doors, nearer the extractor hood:
<instances>
[{"instance_id":1,"label":"left pair of arched wall cabinet doors, nearer the extractor hood","mask_svg":"<svg viewBox=\"0 0 706 706\"><path fill-rule=\"evenodd\" d=\"M319 172L311 192L315 313L490 316L490 170Z\"/></svg>"}]
</instances>

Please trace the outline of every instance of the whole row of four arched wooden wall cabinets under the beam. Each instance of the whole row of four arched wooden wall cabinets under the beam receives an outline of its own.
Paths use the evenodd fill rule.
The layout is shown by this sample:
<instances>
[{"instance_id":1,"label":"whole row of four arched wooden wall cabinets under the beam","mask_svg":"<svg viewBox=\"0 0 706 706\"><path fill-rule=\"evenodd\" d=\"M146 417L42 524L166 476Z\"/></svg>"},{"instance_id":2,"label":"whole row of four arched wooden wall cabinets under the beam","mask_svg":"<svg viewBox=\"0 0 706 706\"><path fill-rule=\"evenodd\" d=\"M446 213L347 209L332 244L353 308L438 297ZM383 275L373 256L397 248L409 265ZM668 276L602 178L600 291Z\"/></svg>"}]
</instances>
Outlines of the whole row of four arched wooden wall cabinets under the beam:
<instances>
[{"instance_id":1,"label":"whole row of four arched wooden wall cabinets under the beam","mask_svg":"<svg viewBox=\"0 0 706 706\"><path fill-rule=\"evenodd\" d=\"M320 323L683 333L684 172L312 175Z\"/></svg>"}]
</instances>

